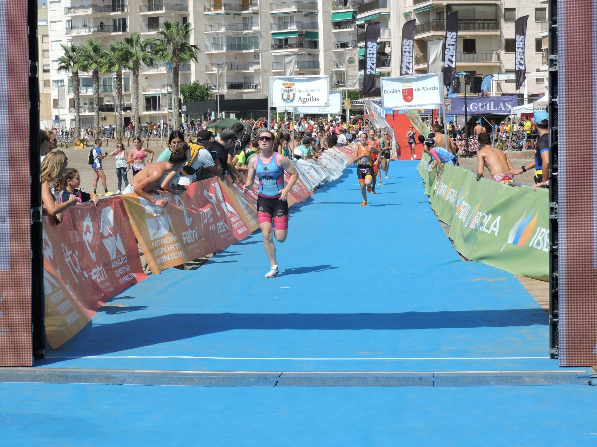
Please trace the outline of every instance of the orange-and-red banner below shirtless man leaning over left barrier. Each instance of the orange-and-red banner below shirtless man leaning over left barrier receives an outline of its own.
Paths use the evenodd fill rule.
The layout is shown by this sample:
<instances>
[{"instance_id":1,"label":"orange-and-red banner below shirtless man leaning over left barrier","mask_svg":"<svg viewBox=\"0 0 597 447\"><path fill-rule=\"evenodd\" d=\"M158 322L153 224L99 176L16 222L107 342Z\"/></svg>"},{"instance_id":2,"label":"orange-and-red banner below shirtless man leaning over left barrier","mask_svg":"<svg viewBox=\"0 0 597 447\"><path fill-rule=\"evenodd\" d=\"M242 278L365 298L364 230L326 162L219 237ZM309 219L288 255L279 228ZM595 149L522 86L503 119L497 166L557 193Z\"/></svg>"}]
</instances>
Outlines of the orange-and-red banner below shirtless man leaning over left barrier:
<instances>
[{"instance_id":1,"label":"orange-and-red banner below shirtless man leaning over left barrier","mask_svg":"<svg viewBox=\"0 0 597 447\"><path fill-rule=\"evenodd\" d=\"M153 274L223 250L259 228L253 210L217 178L190 184L163 209L137 194L122 200Z\"/></svg>"}]
</instances>

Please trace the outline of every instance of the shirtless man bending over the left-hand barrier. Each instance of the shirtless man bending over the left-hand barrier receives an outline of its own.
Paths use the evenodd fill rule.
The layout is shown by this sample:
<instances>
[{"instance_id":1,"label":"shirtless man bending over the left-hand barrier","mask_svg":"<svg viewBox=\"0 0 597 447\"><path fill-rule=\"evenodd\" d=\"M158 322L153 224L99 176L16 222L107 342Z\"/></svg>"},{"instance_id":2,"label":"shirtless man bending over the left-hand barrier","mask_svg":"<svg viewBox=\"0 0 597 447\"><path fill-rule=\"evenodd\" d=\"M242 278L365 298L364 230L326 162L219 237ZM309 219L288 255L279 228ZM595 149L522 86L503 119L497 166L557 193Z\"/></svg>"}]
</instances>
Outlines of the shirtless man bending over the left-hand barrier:
<instances>
[{"instance_id":1,"label":"shirtless man bending over the left-hand barrier","mask_svg":"<svg viewBox=\"0 0 597 447\"><path fill-rule=\"evenodd\" d=\"M171 194L181 194L184 190L173 190L170 184L174 181L174 177L183 169L189 156L189 145L187 143L179 143L172 151L170 159L167 162L154 162L147 164L146 167L133 177L128 187L122 194L136 193L139 197L148 200L155 206L166 206L167 200L163 198L153 198L150 193L157 188L168 191Z\"/></svg>"}]
</instances>

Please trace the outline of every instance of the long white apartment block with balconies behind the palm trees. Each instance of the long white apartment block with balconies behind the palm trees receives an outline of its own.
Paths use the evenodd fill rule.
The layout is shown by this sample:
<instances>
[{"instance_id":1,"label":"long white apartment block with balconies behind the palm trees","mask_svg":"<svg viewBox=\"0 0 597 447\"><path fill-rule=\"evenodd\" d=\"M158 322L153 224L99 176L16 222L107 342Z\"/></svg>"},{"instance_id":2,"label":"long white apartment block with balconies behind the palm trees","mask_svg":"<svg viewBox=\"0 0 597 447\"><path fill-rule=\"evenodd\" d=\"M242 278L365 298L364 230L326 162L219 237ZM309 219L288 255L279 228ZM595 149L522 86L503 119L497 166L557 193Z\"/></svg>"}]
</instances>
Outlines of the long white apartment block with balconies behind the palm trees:
<instances>
[{"instance_id":1,"label":"long white apartment block with balconies behind the palm trees","mask_svg":"<svg viewBox=\"0 0 597 447\"><path fill-rule=\"evenodd\" d=\"M226 93L221 99L267 97L270 75L284 74L284 57L296 55L296 75L330 74L333 0L51 0L48 8L49 65L53 115L61 126L71 125L73 115L72 80L69 73L57 72L60 44L81 44L88 38L101 39L104 46L118 42L132 32L155 38L161 23L189 21L191 43L199 47L197 62L183 64L180 85L198 81L216 92L217 67L226 64ZM349 4L347 0L344 4ZM351 2L352 4L352 2ZM356 3L355 3L356 5ZM354 21L354 20L353 20ZM344 40L356 41L347 31ZM67 85L69 107L58 108L57 88ZM91 73L80 75L82 126L93 124L93 83ZM115 79L100 75L100 122L115 122ZM167 120L171 102L171 72L166 64L143 67L140 75L141 122ZM124 122L131 120L131 73L124 73ZM232 114L234 116L234 114Z\"/></svg>"}]
</instances>

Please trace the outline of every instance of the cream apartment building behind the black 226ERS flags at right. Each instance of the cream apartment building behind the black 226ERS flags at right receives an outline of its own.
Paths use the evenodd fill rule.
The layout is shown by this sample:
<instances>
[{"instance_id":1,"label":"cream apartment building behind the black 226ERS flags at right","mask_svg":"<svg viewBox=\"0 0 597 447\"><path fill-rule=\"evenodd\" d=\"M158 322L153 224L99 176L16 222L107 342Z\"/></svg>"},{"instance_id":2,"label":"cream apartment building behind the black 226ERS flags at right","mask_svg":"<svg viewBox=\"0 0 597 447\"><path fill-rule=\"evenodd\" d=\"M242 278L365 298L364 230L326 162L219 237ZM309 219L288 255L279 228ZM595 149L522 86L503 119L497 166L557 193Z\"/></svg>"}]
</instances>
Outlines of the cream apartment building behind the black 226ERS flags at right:
<instances>
[{"instance_id":1,"label":"cream apartment building behind the black 226ERS flags at right","mask_svg":"<svg viewBox=\"0 0 597 447\"><path fill-rule=\"evenodd\" d=\"M383 0L377 0L383 1ZM476 75L497 75L514 73L515 48L514 23L516 18L529 15L525 58L527 63L527 98L535 100L544 91L543 77L536 77L546 62L547 8L540 0L485 0L485 1L439 1L399 0L396 16L401 30L407 20L415 18L415 73L427 72L427 41L441 39L445 35L445 21L448 14L458 11L458 71L473 72ZM398 72L398 67L395 67ZM499 80L494 83L496 94L518 94L525 96L524 88L515 89L515 80Z\"/></svg>"}]
</instances>

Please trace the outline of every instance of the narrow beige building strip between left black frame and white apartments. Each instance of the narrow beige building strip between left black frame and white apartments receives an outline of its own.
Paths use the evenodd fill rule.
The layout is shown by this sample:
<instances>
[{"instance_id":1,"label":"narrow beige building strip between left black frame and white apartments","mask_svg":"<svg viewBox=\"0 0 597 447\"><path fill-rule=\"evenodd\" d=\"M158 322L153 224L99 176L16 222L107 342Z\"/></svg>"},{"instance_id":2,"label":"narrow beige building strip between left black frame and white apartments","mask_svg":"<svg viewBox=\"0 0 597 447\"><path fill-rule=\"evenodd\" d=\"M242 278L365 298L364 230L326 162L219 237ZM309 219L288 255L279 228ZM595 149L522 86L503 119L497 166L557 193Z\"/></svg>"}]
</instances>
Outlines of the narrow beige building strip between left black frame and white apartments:
<instances>
[{"instance_id":1,"label":"narrow beige building strip between left black frame and white apartments","mask_svg":"<svg viewBox=\"0 0 597 447\"><path fill-rule=\"evenodd\" d=\"M48 9L45 3L38 8L38 61L39 61L39 124L41 129L51 129L52 114L50 79L50 39L48 35Z\"/></svg>"}]
</instances>

